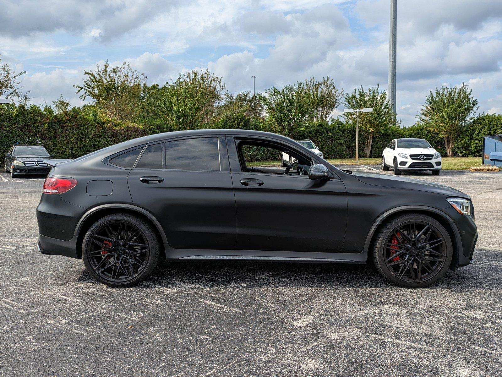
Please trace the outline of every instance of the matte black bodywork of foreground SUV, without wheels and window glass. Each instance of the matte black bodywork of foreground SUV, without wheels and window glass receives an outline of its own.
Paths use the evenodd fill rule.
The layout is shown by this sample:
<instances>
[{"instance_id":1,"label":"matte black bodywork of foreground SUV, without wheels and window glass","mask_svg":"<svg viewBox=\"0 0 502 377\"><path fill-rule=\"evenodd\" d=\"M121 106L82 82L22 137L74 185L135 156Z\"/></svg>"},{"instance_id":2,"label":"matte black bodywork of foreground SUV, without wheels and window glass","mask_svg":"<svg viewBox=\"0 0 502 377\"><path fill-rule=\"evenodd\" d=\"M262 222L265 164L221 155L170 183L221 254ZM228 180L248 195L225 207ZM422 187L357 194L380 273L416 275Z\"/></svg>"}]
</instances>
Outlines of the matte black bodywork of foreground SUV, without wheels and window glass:
<instances>
[{"instance_id":1,"label":"matte black bodywork of foreground SUV, without wheels and window glass","mask_svg":"<svg viewBox=\"0 0 502 377\"><path fill-rule=\"evenodd\" d=\"M201 137L218 138L220 171L126 169L110 163L114 156L138 147ZM239 140L285 146L313 164L326 166L330 179L289 179L261 173L259 168L242 171L236 148ZM450 268L473 262L477 238L473 211L462 215L446 200L470 200L468 195L421 180L349 174L293 140L271 133L157 134L55 163L49 176L71 177L78 184L63 194L42 194L37 208L38 247L46 254L82 258L82 239L96 220L107 214L131 213L151 224L167 260L363 264L376 230L393 216L413 212L433 217L448 231L454 250ZM140 180L150 176L162 181L145 184ZM253 180L261 185L245 185Z\"/></svg>"}]
</instances>

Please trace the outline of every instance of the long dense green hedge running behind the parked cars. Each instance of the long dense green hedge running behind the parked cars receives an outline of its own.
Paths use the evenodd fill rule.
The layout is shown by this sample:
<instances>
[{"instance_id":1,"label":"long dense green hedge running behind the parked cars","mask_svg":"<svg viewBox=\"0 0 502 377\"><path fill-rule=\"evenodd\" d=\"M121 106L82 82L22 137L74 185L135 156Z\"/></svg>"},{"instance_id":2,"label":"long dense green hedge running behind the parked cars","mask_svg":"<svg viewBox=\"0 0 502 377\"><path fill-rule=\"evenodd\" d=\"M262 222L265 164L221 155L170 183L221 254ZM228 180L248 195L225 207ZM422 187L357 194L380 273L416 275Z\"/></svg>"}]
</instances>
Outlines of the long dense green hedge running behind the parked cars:
<instances>
[{"instance_id":1,"label":"long dense green hedge running behind the parked cars","mask_svg":"<svg viewBox=\"0 0 502 377\"><path fill-rule=\"evenodd\" d=\"M268 119L247 117L241 113L226 114L205 127L271 130ZM13 144L42 144L57 158L76 158L109 145L158 133L163 128L162 122L157 126L142 126L105 119L98 115L92 105L55 113L50 107L4 104L0 106L0 152L6 153ZM454 147L455 155L479 157L482 154L482 137L500 133L502 115L483 113L462 130ZM426 139L443 156L446 155L442 138L422 125L413 125L408 128L384 128L373 137L370 157L380 157L392 139L407 137ZM328 159L353 158L355 155L355 127L339 119L330 123L306 124L298 135L295 135L295 139L311 139ZM361 137L360 157L364 156L363 145ZM248 157L253 161L278 159L275 152L259 147L249 151Z\"/></svg>"}]
</instances>

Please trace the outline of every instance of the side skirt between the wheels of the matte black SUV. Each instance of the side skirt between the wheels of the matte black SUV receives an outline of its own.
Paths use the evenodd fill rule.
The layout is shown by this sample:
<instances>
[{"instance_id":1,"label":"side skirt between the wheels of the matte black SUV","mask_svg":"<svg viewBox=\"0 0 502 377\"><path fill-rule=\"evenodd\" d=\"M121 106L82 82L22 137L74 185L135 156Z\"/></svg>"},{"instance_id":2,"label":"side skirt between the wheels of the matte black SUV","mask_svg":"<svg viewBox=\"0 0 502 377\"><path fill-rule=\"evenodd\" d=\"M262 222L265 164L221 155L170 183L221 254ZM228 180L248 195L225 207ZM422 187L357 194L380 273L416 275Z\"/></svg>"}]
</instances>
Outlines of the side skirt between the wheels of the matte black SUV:
<instances>
[{"instance_id":1,"label":"side skirt between the wheels of the matte black SUV","mask_svg":"<svg viewBox=\"0 0 502 377\"><path fill-rule=\"evenodd\" d=\"M309 253L269 250L194 250L166 248L167 260L214 261L273 261L273 262L329 262L365 264L367 252L360 253Z\"/></svg>"}]
</instances>

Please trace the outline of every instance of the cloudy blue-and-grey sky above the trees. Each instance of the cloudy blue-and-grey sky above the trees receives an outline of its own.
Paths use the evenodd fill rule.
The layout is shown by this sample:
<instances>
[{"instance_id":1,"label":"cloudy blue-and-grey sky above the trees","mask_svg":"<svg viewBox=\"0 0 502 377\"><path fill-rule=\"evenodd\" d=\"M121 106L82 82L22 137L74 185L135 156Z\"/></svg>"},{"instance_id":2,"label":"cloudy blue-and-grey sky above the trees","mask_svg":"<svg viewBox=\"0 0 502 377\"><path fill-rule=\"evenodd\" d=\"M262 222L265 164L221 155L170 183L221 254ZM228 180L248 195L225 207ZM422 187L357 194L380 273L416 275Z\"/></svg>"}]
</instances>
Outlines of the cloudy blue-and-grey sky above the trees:
<instances>
[{"instance_id":1,"label":"cloudy blue-and-grey sky above the trees","mask_svg":"<svg viewBox=\"0 0 502 377\"><path fill-rule=\"evenodd\" d=\"M390 0L0 0L0 54L26 70L32 102L63 95L108 59L164 83L209 68L231 92L329 75L387 88ZM398 117L429 90L466 82L502 112L502 1L398 0Z\"/></svg>"}]
</instances>

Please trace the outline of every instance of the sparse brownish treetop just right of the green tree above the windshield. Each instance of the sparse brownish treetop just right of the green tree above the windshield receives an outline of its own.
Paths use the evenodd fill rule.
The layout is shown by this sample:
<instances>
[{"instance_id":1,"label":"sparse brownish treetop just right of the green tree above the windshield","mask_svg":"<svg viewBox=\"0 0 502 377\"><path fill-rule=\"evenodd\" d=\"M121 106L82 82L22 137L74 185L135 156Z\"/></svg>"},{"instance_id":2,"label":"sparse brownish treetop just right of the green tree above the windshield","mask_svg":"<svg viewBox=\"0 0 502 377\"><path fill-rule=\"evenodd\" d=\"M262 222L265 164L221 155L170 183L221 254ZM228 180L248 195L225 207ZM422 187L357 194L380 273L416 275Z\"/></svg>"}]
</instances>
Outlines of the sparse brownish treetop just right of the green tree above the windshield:
<instances>
[{"instance_id":1,"label":"sparse brownish treetop just right of the green tree above the windshield","mask_svg":"<svg viewBox=\"0 0 502 377\"><path fill-rule=\"evenodd\" d=\"M316 81L314 77L305 80L305 91L309 99L309 120L327 122L333 111L340 105L343 89L338 90L333 79L323 77Z\"/></svg>"}]
</instances>

